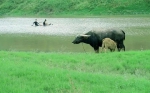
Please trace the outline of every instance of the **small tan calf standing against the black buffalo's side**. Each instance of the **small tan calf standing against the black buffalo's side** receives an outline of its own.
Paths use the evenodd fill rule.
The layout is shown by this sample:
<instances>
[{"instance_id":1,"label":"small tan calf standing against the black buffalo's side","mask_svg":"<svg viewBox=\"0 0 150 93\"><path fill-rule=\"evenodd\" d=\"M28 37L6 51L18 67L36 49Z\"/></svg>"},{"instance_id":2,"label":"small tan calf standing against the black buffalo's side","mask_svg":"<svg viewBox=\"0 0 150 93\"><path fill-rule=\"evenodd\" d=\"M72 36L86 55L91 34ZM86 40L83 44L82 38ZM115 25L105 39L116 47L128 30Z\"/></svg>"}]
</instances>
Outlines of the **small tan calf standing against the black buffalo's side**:
<instances>
[{"instance_id":1,"label":"small tan calf standing against the black buffalo's side","mask_svg":"<svg viewBox=\"0 0 150 93\"><path fill-rule=\"evenodd\" d=\"M111 52L114 52L117 48L117 44L115 41L111 40L110 38L104 38L102 43L102 51L109 49Z\"/></svg>"}]
</instances>

